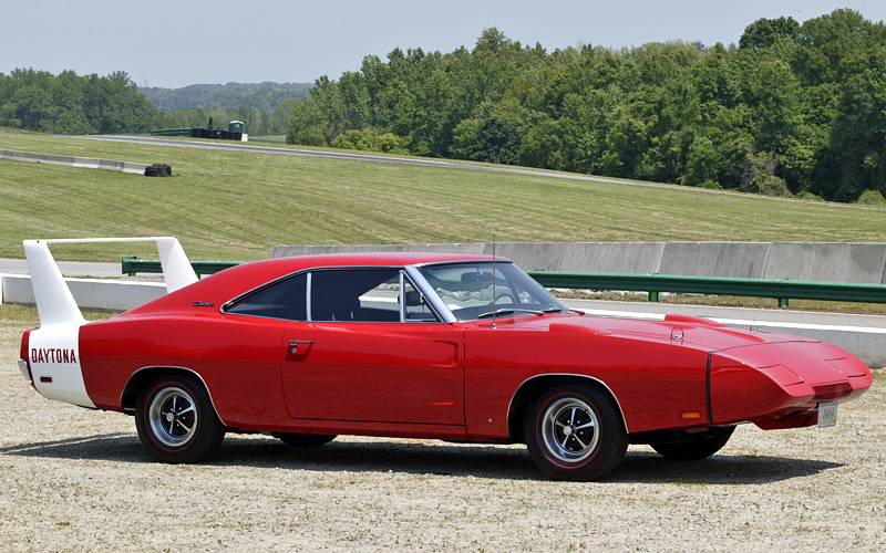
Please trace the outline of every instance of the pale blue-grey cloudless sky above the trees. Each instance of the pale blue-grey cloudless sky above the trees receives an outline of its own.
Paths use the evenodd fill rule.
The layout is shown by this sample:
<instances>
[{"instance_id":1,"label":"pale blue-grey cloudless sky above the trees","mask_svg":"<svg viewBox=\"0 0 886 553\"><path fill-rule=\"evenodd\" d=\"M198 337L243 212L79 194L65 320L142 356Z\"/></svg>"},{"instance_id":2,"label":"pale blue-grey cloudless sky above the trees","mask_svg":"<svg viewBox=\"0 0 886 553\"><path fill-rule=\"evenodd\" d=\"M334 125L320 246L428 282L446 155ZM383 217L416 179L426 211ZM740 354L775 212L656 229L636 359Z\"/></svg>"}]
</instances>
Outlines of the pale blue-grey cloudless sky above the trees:
<instances>
[{"instance_id":1,"label":"pale blue-grey cloudless sky above the trees","mask_svg":"<svg viewBox=\"0 0 886 553\"><path fill-rule=\"evenodd\" d=\"M473 49L495 27L548 52L579 44L738 43L760 18L837 8L886 19L883 0L2 0L0 73L125 71L140 86L312 83L364 55Z\"/></svg>"}]
</instances>

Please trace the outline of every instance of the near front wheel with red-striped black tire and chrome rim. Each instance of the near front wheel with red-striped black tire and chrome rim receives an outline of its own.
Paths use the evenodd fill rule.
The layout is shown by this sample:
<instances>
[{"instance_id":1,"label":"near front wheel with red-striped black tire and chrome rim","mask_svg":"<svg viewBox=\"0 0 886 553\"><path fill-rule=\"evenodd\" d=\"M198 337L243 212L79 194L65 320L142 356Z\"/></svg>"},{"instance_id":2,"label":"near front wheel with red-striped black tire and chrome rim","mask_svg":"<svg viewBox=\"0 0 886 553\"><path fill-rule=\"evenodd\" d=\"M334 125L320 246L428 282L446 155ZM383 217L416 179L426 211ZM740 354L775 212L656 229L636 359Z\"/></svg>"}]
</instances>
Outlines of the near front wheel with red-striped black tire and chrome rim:
<instances>
[{"instance_id":1,"label":"near front wheel with red-striped black tire and chrome rim","mask_svg":"<svg viewBox=\"0 0 886 553\"><path fill-rule=\"evenodd\" d=\"M555 480L597 480L625 458L628 432L609 394L585 384L559 384L536 394L524 421L526 447Z\"/></svg>"}]
</instances>

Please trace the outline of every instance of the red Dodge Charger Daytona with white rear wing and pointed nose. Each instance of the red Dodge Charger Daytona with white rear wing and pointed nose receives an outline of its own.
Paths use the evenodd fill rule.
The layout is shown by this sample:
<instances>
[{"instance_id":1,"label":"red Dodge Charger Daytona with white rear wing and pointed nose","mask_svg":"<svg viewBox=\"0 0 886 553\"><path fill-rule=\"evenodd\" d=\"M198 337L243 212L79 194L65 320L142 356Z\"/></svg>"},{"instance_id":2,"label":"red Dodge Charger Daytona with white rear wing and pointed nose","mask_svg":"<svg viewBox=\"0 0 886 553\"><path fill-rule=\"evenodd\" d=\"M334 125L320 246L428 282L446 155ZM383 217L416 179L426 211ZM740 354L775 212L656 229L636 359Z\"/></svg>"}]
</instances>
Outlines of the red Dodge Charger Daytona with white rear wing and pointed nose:
<instances>
[{"instance_id":1,"label":"red Dodge Charger Daytona with white rear wing and pointed nose","mask_svg":"<svg viewBox=\"0 0 886 553\"><path fill-rule=\"evenodd\" d=\"M130 240L157 243L168 293L86 323L48 243ZM502 258L313 255L197 280L174 238L24 249L41 326L22 374L50 399L133 415L165 462L206 459L227 431L365 435L523 442L549 477L594 480L629 444L702 459L743 422L833 425L872 383L814 340L573 312Z\"/></svg>"}]
</instances>

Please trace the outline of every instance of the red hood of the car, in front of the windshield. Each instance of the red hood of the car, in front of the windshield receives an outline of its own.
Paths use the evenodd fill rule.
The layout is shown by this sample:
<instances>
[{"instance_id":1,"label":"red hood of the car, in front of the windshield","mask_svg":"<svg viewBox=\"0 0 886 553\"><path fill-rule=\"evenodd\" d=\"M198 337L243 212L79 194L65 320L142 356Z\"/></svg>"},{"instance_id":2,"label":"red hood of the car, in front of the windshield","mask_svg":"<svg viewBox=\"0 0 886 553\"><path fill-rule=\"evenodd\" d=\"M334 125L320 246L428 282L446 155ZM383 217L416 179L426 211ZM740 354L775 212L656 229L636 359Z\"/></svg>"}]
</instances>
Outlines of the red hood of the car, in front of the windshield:
<instances>
[{"instance_id":1,"label":"red hood of the car, in front of the windshield","mask_svg":"<svg viewBox=\"0 0 886 553\"><path fill-rule=\"evenodd\" d=\"M686 346L696 346L707 351L723 351L733 347L785 342L818 342L777 332L727 326L710 319L684 315L667 315L663 321L588 315L546 316L526 319L515 324L549 332L588 333L681 343Z\"/></svg>"}]
</instances>

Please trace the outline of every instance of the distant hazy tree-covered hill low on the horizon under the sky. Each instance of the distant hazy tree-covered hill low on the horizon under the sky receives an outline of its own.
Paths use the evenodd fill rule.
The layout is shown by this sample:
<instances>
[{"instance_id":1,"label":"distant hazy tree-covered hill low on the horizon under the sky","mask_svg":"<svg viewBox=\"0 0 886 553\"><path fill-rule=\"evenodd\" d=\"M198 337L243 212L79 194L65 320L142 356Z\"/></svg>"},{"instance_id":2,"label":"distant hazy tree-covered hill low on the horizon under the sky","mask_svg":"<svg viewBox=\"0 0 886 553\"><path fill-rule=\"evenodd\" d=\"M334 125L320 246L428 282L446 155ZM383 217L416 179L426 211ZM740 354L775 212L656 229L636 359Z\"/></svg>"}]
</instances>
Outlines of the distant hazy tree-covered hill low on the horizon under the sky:
<instances>
[{"instance_id":1,"label":"distant hazy tree-covered hill low on the horizon under the sky","mask_svg":"<svg viewBox=\"0 0 886 553\"><path fill-rule=\"evenodd\" d=\"M184 88L138 87L138 92L161 112L192 107L220 107L236 111L240 106L271 112L281 100L305 100L313 86L308 83L228 83L192 84Z\"/></svg>"}]
</instances>

